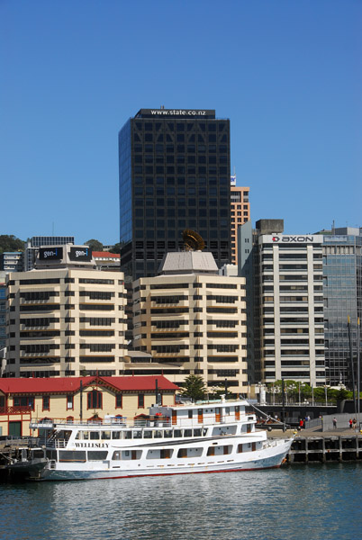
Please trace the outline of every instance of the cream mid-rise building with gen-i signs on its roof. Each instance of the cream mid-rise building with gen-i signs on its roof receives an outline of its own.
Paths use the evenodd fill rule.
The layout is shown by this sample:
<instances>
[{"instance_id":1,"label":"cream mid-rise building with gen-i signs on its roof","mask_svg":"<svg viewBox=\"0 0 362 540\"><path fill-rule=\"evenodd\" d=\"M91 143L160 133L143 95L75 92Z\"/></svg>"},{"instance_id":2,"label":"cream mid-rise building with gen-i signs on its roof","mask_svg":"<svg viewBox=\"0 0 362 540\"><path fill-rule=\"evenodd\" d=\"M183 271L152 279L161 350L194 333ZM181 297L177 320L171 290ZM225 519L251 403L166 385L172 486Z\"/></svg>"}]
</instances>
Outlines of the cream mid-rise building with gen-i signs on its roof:
<instances>
[{"instance_id":1,"label":"cream mid-rise building with gen-i signs on its roof","mask_svg":"<svg viewBox=\"0 0 362 540\"><path fill-rule=\"evenodd\" d=\"M126 352L122 273L86 246L41 247L7 278L5 377L118 375Z\"/></svg>"}]
</instances>

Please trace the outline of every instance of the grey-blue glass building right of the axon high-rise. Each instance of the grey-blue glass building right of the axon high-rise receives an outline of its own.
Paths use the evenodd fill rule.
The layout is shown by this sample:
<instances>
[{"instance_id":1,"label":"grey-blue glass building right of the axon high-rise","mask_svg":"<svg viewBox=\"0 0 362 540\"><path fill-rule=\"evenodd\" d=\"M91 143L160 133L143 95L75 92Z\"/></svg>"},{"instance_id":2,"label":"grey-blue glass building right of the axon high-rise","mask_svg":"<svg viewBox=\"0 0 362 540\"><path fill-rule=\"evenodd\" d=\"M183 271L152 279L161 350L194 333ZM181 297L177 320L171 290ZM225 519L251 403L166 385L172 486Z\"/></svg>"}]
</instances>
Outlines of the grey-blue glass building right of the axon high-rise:
<instances>
[{"instance_id":1,"label":"grey-blue glass building right of the axon high-rise","mask_svg":"<svg viewBox=\"0 0 362 540\"><path fill-rule=\"evenodd\" d=\"M352 388L348 316L353 356L357 356L357 317L362 315L362 234L336 229L323 239L324 331L327 382ZM355 234L351 234L354 232ZM344 233L344 234L343 234Z\"/></svg>"}]
</instances>

